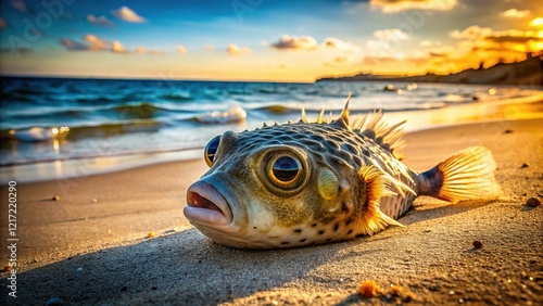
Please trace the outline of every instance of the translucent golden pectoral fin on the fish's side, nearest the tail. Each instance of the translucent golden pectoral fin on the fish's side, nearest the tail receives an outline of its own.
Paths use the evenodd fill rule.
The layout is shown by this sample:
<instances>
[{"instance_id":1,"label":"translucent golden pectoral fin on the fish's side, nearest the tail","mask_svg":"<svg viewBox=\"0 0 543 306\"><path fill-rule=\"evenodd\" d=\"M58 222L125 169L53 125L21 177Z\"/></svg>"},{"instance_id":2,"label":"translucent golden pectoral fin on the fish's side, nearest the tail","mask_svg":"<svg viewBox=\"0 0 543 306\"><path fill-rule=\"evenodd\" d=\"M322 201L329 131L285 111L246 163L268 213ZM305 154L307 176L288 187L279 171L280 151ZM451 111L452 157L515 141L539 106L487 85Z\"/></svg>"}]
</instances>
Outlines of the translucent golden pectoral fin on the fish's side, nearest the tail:
<instances>
[{"instance_id":1,"label":"translucent golden pectoral fin on the fish's side, nearest the tail","mask_svg":"<svg viewBox=\"0 0 543 306\"><path fill-rule=\"evenodd\" d=\"M393 218L387 216L380 209L381 199L386 196L396 196L390 190L392 182L379 168L371 165L364 165L358 170L358 178L364 182L365 203L359 221L359 227L365 234L374 234L386 229L388 226L403 227Z\"/></svg>"}]
</instances>

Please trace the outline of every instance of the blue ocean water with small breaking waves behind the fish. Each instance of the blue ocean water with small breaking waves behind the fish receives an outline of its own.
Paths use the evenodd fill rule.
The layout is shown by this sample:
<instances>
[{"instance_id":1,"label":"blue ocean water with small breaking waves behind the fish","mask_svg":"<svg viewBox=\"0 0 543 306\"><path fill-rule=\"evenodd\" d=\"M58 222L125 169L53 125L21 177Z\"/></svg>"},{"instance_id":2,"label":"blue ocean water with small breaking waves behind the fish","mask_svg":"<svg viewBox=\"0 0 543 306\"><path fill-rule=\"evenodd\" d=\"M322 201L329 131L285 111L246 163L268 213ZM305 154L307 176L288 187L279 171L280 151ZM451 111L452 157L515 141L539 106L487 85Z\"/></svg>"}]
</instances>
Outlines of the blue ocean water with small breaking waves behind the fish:
<instances>
[{"instance_id":1,"label":"blue ocean water with small breaking waves behind the fish","mask_svg":"<svg viewBox=\"0 0 543 306\"><path fill-rule=\"evenodd\" d=\"M226 130L298 120L305 107L339 115L407 113L529 97L496 86L0 78L0 167L203 148ZM388 86L389 90L384 90ZM64 128L63 128L64 127ZM65 128L67 127L67 128Z\"/></svg>"}]
</instances>

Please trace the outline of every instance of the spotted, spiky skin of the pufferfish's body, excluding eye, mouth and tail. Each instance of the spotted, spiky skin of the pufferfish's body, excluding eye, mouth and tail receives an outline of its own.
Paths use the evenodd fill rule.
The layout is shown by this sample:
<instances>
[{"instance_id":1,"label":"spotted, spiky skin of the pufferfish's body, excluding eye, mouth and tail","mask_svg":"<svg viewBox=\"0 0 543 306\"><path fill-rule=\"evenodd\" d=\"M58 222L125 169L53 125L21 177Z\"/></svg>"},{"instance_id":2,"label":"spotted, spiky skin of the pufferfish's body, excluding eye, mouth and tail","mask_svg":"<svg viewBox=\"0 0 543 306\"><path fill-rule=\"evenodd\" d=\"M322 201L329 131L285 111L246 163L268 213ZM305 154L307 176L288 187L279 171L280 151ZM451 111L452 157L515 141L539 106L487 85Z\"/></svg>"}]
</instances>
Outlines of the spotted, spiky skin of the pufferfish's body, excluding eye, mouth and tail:
<instances>
[{"instance_id":1,"label":"spotted, spiky skin of the pufferfish's body, excluding eye, mouth and tail","mask_svg":"<svg viewBox=\"0 0 543 306\"><path fill-rule=\"evenodd\" d=\"M365 127L363 123L353 126ZM215 163L201 180L229 199L236 227L222 231L194 225L213 240L237 247L292 247L354 239L384 229L394 224L391 218L409 209L415 196L405 195L405 190L414 188L411 176L415 173L392 155L389 144L365 130L352 129L340 119L224 133ZM266 183L265 158L278 151L295 152L304 160L305 179L295 192L282 192ZM332 171L339 180L337 195L330 200L319 194L316 178L323 169ZM372 180L367 180L365 176L371 174ZM394 191L389 187L392 181L406 184L396 190L400 195L389 190ZM379 202L380 212L388 217L379 212ZM375 205L377 212L372 212Z\"/></svg>"}]
</instances>

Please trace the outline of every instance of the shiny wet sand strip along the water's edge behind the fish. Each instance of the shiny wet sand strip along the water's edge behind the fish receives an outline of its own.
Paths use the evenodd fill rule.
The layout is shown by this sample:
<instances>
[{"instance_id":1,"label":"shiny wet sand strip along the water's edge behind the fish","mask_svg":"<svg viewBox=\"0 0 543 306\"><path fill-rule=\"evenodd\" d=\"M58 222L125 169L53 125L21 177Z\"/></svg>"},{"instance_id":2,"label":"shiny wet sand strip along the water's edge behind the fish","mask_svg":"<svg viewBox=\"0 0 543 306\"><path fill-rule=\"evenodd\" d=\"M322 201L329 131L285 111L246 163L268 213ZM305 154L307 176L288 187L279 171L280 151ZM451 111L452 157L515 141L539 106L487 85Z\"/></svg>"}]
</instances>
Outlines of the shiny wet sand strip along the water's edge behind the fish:
<instances>
[{"instance_id":1,"label":"shiny wet sand strip along the water's edge behind the fish","mask_svg":"<svg viewBox=\"0 0 543 306\"><path fill-rule=\"evenodd\" d=\"M353 111L353 114L357 114L357 112ZM384 118L389 123L407 120L405 126L407 132L451 127L460 124L543 118L543 97L540 94L506 100L463 103L433 110L386 112ZM77 179L89 175L114 173L165 162L198 160L201 157L202 149L187 148L171 151L135 152L129 154L85 156L4 165L0 166L0 183L4 184L10 180L38 182Z\"/></svg>"}]
</instances>

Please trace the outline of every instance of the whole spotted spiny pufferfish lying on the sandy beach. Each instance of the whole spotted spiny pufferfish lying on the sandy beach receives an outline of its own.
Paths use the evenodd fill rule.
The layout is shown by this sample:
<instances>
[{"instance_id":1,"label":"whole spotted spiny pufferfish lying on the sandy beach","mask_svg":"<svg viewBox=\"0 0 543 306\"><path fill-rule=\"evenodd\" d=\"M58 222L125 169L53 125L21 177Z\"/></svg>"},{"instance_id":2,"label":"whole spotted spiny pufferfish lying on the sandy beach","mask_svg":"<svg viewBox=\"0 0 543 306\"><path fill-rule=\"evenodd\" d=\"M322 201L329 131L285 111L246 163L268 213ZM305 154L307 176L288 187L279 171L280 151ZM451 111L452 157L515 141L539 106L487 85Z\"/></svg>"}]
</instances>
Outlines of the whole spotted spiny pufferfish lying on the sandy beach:
<instances>
[{"instance_id":1,"label":"whole spotted spiny pufferfish lying on the sandy beach","mask_svg":"<svg viewBox=\"0 0 543 306\"><path fill-rule=\"evenodd\" d=\"M405 122L388 125L379 112L350 123L349 100L338 119L323 115L308 123L302 111L299 123L212 139L204 150L210 170L187 191L187 219L220 244L294 247L402 226L396 219L418 195L457 203L501 194L483 146L418 173L393 154Z\"/></svg>"}]
</instances>

